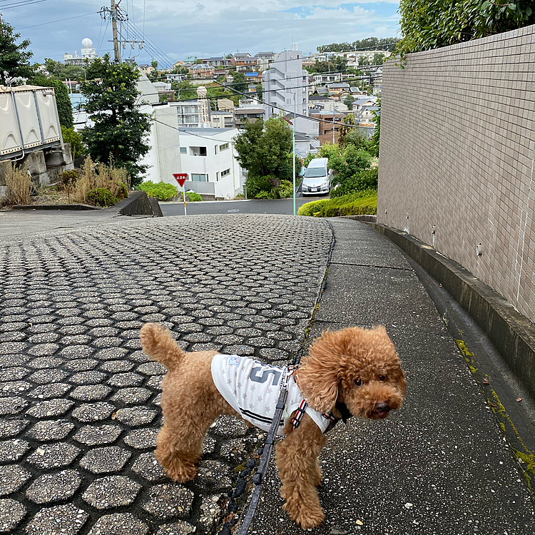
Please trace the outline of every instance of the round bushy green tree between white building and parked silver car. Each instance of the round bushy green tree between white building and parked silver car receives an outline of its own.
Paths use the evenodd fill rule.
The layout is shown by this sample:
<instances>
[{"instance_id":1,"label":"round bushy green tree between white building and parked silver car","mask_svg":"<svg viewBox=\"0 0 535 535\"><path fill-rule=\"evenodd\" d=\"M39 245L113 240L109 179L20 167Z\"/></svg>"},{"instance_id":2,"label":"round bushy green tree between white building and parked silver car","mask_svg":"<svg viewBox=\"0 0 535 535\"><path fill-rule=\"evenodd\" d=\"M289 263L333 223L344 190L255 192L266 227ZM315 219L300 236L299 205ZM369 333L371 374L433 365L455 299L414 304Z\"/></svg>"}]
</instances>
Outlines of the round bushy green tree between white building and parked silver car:
<instances>
[{"instance_id":1,"label":"round bushy green tree between white building and parked silver car","mask_svg":"<svg viewBox=\"0 0 535 535\"><path fill-rule=\"evenodd\" d=\"M253 179L274 175L292 180L292 130L282 118L245 123L234 138L234 148L236 159Z\"/></svg>"}]
</instances>

